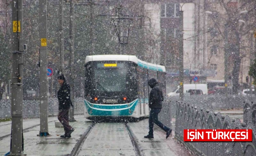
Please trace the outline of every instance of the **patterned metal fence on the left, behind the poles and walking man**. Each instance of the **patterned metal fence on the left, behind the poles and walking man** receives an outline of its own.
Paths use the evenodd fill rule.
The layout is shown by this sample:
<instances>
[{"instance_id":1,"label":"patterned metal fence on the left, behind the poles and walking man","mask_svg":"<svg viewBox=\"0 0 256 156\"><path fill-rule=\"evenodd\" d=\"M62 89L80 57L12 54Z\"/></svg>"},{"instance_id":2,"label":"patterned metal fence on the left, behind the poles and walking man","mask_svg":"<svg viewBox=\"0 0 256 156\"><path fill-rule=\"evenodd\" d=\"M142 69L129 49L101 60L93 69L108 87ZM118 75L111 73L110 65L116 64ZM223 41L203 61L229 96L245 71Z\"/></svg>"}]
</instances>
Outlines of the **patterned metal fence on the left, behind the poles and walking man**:
<instances>
[{"instance_id":1,"label":"patterned metal fence on the left, behind the poles and walking man","mask_svg":"<svg viewBox=\"0 0 256 156\"><path fill-rule=\"evenodd\" d=\"M84 113L84 98L75 98L74 107L75 114ZM58 114L58 99L48 99L48 115ZM22 115L24 118L28 117L40 117L40 101L39 100L23 100ZM0 118L11 117L11 101L1 100L0 101Z\"/></svg>"}]
</instances>

